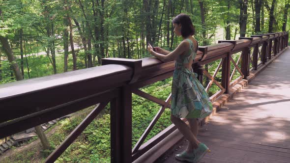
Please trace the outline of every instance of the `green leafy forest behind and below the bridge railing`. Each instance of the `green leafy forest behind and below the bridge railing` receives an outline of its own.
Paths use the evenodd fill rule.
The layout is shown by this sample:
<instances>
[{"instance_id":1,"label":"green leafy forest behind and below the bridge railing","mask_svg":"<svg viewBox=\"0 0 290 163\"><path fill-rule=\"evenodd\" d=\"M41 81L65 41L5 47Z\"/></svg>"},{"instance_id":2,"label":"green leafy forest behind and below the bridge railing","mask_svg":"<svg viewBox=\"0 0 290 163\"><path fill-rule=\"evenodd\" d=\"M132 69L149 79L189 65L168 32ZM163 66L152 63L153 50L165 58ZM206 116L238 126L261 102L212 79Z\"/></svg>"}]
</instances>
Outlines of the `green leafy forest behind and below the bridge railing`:
<instances>
[{"instance_id":1,"label":"green leafy forest behind and below the bridge railing","mask_svg":"<svg viewBox=\"0 0 290 163\"><path fill-rule=\"evenodd\" d=\"M172 51L182 39L172 24L180 13L191 17L195 38L206 46L217 40L289 31L289 8L290 0L0 0L0 84L100 66L106 57L149 57L148 43ZM210 64L205 68L211 74L215 70ZM170 86L168 79L143 90L166 99ZM213 87L209 94L215 91ZM136 143L158 105L134 95L133 104ZM108 110L61 155L59 163L110 162ZM53 148L81 122L83 112L58 122L60 130L49 136ZM149 137L171 124L169 115L166 110ZM43 161L37 150L2 161Z\"/></svg>"}]
</instances>

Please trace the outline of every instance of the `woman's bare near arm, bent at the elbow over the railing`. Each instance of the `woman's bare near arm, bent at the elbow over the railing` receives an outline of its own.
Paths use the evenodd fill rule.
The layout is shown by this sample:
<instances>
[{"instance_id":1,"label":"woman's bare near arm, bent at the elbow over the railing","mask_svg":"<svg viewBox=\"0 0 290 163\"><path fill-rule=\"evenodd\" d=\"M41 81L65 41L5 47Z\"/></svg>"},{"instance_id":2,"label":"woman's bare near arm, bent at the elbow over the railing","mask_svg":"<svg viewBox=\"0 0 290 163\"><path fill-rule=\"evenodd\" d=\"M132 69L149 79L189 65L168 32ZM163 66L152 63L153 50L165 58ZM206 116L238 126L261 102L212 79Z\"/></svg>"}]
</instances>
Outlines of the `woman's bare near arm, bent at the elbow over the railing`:
<instances>
[{"instance_id":1,"label":"woman's bare near arm, bent at the elbow over the railing","mask_svg":"<svg viewBox=\"0 0 290 163\"><path fill-rule=\"evenodd\" d=\"M184 51L188 50L188 48L189 43L187 41L182 41L173 52L167 55L163 55L154 52L152 46L149 44L148 52L154 55L156 58L160 59L162 62L169 62L171 60L174 60L178 55L182 54Z\"/></svg>"}]
</instances>

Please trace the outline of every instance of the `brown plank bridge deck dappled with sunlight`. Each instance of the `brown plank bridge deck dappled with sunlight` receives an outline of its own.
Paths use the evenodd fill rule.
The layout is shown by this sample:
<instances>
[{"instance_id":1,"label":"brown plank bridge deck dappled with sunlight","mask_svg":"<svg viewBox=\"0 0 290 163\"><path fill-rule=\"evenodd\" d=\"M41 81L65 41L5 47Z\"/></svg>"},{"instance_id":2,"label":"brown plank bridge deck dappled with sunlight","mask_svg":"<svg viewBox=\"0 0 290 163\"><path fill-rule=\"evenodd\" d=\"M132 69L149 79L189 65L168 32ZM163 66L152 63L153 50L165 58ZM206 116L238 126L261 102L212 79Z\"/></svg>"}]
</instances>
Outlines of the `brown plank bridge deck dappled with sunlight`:
<instances>
[{"instance_id":1,"label":"brown plank bridge deck dappled with sunlight","mask_svg":"<svg viewBox=\"0 0 290 163\"><path fill-rule=\"evenodd\" d=\"M287 49L201 129L211 149L201 163L290 163L290 50ZM163 163L182 163L174 155Z\"/></svg>"}]
</instances>

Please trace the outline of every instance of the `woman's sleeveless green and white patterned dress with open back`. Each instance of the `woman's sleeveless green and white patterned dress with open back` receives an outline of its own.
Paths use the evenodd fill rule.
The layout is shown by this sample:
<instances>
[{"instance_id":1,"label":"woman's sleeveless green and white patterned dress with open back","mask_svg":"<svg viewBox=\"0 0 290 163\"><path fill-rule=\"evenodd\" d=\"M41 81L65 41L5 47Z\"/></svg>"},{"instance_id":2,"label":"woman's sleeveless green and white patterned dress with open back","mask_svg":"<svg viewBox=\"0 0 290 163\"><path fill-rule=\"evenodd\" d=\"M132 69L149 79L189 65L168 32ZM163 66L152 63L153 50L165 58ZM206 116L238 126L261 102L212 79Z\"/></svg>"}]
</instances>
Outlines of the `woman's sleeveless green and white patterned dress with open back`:
<instances>
[{"instance_id":1,"label":"woman's sleeveless green and white patterned dress with open back","mask_svg":"<svg viewBox=\"0 0 290 163\"><path fill-rule=\"evenodd\" d=\"M196 56L193 42L190 39L186 41L190 44L188 54L179 55L175 62L171 113L179 118L204 118L212 112L212 104L197 79L198 75L184 67L185 63L189 63Z\"/></svg>"}]
</instances>

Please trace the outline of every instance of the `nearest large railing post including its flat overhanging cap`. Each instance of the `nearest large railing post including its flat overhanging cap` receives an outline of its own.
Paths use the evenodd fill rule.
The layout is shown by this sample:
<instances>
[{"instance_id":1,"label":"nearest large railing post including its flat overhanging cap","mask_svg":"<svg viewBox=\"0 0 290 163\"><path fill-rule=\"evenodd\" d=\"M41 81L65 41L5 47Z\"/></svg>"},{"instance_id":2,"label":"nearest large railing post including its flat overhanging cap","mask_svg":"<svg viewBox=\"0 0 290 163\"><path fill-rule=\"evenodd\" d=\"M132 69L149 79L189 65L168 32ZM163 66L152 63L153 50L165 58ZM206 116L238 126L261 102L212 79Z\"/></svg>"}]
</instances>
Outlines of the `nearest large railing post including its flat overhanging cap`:
<instances>
[{"instance_id":1,"label":"nearest large railing post including its flat overhanging cap","mask_svg":"<svg viewBox=\"0 0 290 163\"><path fill-rule=\"evenodd\" d=\"M131 81L119 88L119 95L111 101L111 163L132 163L132 89L138 81L142 60L104 58L102 64L122 64L132 68Z\"/></svg>"}]
</instances>

